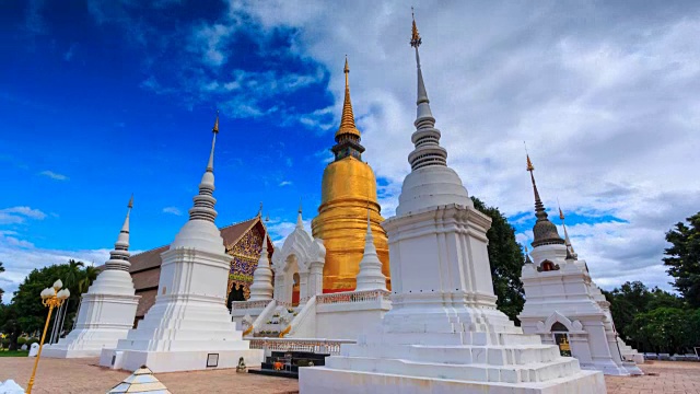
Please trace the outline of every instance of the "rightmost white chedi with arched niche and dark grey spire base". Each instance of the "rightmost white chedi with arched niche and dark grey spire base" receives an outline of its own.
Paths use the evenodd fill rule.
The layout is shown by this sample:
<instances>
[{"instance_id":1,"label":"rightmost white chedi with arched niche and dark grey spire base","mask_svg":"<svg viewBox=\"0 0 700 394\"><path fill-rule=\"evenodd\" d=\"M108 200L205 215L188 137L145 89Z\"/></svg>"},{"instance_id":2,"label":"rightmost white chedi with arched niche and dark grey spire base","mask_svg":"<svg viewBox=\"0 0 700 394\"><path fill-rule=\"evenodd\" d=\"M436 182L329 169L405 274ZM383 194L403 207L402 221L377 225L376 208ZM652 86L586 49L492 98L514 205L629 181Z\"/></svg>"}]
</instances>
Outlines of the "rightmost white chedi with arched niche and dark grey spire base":
<instances>
[{"instance_id":1,"label":"rightmost white chedi with arched niche and dark grey spire base","mask_svg":"<svg viewBox=\"0 0 700 394\"><path fill-rule=\"evenodd\" d=\"M565 225L562 240L548 219L534 170L527 155L537 222L532 259L526 257L521 277L526 301L517 317L523 331L559 346L562 355L575 357L584 369L611 375L641 374L634 362L625 361L609 303L591 279L586 262L574 253ZM559 216L563 222L561 209Z\"/></svg>"}]
</instances>

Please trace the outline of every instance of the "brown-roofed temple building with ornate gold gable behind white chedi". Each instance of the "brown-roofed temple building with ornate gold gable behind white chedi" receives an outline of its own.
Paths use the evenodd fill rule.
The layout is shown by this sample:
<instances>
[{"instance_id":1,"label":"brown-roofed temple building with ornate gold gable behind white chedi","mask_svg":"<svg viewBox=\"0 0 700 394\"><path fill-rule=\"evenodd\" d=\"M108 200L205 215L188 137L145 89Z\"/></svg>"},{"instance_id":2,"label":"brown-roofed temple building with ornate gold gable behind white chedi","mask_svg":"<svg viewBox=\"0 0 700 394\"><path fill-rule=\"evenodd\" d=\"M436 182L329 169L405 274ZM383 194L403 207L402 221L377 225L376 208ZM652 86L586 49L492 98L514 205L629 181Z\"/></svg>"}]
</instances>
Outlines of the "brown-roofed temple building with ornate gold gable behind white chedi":
<instances>
[{"instance_id":1,"label":"brown-roofed temple building with ornate gold gable behind white chedi","mask_svg":"<svg viewBox=\"0 0 700 394\"><path fill-rule=\"evenodd\" d=\"M257 267L262 250L262 236L265 223L261 212L248 220L223 227L221 237L226 247L226 254L231 256L231 269L229 271L229 286L226 288L226 305L231 308L232 301L247 300L253 285L253 273ZM136 312L135 326L145 316L145 313L155 302L158 282L161 277L161 253L167 251L168 245L156 247L130 258L131 277L136 294L141 296ZM270 256L273 251L272 242L268 239Z\"/></svg>"}]
</instances>

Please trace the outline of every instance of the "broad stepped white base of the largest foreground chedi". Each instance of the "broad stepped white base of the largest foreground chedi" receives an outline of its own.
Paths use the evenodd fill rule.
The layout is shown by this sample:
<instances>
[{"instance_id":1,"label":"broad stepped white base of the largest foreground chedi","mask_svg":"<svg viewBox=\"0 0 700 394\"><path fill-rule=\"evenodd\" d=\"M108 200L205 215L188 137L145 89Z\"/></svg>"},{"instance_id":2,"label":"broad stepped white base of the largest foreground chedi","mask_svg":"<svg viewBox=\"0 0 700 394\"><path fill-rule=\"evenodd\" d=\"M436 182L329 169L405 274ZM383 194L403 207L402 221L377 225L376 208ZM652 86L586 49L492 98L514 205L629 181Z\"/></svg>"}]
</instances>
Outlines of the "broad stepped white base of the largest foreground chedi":
<instances>
[{"instance_id":1,"label":"broad stepped white base of the largest foreground chedi","mask_svg":"<svg viewBox=\"0 0 700 394\"><path fill-rule=\"evenodd\" d=\"M480 312L486 312L480 323L453 316L446 325L445 314L393 318L398 316L389 313L385 333L343 345L325 367L301 369L301 393L605 393L602 373L581 370L576 359L561 357L556 346L523 335L511 322L495 328L489 321L500 321L498 312L472 310ZM397 326L409 320L424 329ZM498 332L474 329L478 326Z\"/></svg>"}]
</instances>

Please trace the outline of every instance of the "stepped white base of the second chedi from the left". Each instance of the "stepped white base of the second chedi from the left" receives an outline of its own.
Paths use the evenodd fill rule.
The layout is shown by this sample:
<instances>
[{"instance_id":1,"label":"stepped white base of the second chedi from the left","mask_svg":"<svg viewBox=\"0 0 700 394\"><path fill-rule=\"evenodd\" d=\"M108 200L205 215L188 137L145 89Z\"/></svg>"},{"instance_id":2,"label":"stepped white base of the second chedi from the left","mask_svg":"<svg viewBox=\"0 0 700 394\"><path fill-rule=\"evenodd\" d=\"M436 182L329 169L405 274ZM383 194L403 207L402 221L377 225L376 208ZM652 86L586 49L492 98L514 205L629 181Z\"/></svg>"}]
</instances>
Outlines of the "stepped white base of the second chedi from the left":
<instances>
[{"instance_id":1,"label":"stepped white base of the second chedi from the left","mask_svg":"<svg viewBox=\"0 0 700 394\"><path fill-rule=\"evenodd\" d=\"M159 296L137 329L102 351L100 364L129 371L147 366L158 373L235 368L241 357L248 366L262 362L262 350L250 349L224 304L212 301Z\"/></svg>"}]
</instances>

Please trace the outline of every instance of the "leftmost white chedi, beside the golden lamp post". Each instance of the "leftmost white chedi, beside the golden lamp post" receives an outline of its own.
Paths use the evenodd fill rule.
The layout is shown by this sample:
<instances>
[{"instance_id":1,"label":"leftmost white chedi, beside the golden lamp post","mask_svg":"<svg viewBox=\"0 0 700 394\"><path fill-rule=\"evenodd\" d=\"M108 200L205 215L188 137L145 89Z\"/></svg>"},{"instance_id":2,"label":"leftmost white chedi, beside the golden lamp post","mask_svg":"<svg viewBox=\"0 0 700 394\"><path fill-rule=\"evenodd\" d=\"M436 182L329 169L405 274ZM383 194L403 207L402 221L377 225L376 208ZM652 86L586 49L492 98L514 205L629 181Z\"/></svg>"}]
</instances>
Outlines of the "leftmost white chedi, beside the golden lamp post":
<instances>
[{"instance_id":1,"label":"leftmost white chedi, beside the golden lamp post","mask_svg":"<svg viewBox=\"0 0 700 394\"><path fill-rule=\"evenodd\" d=\"M105 347L114 347L126 338L133 326L140 296L135 296L129 274L129 215L133 196L129 199L127 217L105 269L82 296L73 331L57 344L45 346L44 357L97 357Z\"/></svg>"}]
</instances>

